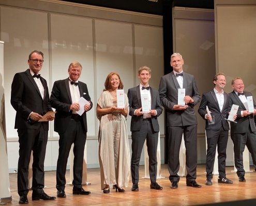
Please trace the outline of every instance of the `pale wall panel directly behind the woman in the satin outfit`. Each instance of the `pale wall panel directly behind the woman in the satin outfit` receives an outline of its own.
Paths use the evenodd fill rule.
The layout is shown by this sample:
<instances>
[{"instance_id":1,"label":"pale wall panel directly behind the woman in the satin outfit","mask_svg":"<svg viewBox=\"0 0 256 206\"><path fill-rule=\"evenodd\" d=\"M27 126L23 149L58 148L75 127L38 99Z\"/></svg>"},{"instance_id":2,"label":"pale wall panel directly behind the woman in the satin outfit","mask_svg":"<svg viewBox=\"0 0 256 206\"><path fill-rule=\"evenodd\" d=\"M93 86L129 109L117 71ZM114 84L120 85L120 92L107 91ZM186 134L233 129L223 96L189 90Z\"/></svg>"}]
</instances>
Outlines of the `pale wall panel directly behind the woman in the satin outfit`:
<instances>
[{"instance_id":1,"label":"pale wall panel directly behind the woman in the satin outfit","mask_svg":"<svg viewBox=\"0 0 256 206\"><path fill-rule=\"evenodd\" d=\"M133 87L132 25L95 21L97 100L104 82L111 72L116 72L124 83L124 91ZM99 121L98 121L99 123ZM127 119L130 133L130 117Z\"/></svg>"}]
</instances>

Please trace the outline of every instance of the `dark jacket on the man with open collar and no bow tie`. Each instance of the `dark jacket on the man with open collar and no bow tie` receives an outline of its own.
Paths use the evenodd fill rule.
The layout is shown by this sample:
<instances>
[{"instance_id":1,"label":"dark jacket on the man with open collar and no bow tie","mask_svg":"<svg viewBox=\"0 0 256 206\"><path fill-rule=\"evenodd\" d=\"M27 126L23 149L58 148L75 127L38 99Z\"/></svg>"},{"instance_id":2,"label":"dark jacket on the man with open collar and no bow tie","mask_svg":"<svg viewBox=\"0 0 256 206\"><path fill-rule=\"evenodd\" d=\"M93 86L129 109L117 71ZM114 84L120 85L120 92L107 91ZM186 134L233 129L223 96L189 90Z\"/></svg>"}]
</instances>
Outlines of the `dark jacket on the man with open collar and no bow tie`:
<instances>
[{"instance_id":1,"label":"dark jacket on the man with open collar and no bow tie","mask_svg":"<svg viewBox=\"0 0 256 206\"><path fill-rule=\"evenodd\" d=\"M214 90L206 92L202 96L202 100L198 109L198 113L205 120L205 129L207 130L219 130L223 127L224 130L229 130L229 123L225 118L229 116L229 95L224 92L224 103L222 110L220 111L219 102L217 100ZM206 106L212 116L214 116L214 124L208 124L208 119L205 119Z\"/></svg>"}]
</instances>

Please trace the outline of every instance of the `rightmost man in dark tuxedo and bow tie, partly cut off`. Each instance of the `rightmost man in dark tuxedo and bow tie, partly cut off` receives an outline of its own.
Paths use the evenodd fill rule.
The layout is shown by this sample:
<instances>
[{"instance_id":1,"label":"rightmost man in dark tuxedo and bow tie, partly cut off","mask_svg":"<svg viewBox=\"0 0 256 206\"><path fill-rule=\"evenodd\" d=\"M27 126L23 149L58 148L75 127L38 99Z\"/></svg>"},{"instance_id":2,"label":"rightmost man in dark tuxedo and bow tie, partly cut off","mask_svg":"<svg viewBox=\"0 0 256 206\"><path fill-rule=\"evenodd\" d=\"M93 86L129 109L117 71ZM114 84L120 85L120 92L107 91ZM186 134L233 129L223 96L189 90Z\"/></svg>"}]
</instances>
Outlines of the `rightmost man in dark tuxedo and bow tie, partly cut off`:
<instances>
[{"instance_id":1,"label":"rightmost man in dark tuxedo and bow tie, partly cut off","mask_svg":"<svg viewBox=\"0 0 256 206\"><path fill-rule=\"evenodd\" d=\"M230 123L231 139L234 144L234 163L237 169L236 174L240 182L245 182L245 170L243 164L243 152L245 145L251 153L252 162L256 165L256 126L253 115L256 114L256 105L253 99L254 112L248 112L247 97L252 96L250 92L244 92L244 83L241 78L232 80L233 92L229 93L229 110L232 105L238 105L237 123Z\"/></svg>"}]
</instances>

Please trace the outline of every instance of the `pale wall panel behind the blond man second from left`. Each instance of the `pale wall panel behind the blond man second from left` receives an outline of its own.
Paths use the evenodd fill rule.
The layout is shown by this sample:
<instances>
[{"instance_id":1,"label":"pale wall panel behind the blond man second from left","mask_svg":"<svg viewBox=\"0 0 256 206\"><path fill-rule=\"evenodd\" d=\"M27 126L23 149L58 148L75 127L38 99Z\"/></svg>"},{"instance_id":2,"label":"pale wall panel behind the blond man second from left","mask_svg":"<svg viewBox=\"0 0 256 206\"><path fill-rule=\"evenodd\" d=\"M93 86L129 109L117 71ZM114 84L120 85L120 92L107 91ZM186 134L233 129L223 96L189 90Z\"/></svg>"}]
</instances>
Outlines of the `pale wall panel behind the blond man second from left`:
<instances>
[{"instance_id":1,"label":"pale wall panel behind the blond man second from left","mask_svg":"<svg viewBox=\"0 0 256 206\"><path fill-rule=\"evenodd\" d=\"M87 84L94 108L87 112L87 135L95 134L93 26L91 19L51 14L52 85L54 81L68 78L68 66L73 61L83 69L79 81ZM56 132L54 137L58 137Z\"/></svg>"}]
</instances>

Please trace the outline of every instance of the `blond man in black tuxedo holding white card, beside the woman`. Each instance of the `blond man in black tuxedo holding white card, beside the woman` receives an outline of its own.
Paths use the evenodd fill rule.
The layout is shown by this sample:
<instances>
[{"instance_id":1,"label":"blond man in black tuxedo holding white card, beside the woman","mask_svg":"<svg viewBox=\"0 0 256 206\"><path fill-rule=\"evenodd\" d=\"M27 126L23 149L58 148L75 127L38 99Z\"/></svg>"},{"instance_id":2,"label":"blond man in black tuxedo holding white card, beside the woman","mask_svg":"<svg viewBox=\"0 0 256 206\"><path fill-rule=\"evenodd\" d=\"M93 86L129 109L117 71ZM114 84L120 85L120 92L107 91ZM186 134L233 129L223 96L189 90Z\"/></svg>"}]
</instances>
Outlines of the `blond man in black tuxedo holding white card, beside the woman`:
<instances>
[{"instance_id":1,"label":"blond man in black tuxedo holding white card, beside the woman","mask_svg":"<svg viewBox=\"0 0 256 206\"><path fill-rule=\"evenodd\" d=\"M91 192L83 190L83 160L84 146L87 133L86 112L91 110L93 102L89 96L87 85L78 81L82 72L82 65L74 61L68 67L69 77L55 81L52 88L50 102L56 109L54 131L59 134L59 152L56 171L57 197L66 197L66 167L71 145L74 143L73 165L73 194L89 195ZM78 103L84 97L90 104L84 105L84 113L80 116Z\"/></svg>"}]
</instances>

